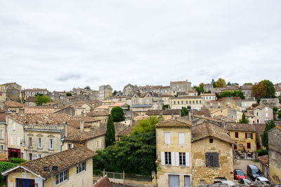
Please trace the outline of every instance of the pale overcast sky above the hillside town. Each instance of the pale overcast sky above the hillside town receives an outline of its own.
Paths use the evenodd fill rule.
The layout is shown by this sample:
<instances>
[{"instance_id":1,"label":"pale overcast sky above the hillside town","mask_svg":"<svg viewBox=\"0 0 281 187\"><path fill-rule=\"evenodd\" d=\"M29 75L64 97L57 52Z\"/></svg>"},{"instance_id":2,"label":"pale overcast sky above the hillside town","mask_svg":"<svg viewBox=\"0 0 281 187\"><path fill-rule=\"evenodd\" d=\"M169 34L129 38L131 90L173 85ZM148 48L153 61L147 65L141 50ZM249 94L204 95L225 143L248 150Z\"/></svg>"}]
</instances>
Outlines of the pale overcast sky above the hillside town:
<instances>
[{"instance_id":1,"label":"pale overcast sky above the hillside town","mask_svg":"<svg viewBox=\"0 0 281 187\"><path fill-rule=\"evenodd\" d=\"M281 82L281 1L1 1L0 83Z\"/></svg>"}]
</instances>

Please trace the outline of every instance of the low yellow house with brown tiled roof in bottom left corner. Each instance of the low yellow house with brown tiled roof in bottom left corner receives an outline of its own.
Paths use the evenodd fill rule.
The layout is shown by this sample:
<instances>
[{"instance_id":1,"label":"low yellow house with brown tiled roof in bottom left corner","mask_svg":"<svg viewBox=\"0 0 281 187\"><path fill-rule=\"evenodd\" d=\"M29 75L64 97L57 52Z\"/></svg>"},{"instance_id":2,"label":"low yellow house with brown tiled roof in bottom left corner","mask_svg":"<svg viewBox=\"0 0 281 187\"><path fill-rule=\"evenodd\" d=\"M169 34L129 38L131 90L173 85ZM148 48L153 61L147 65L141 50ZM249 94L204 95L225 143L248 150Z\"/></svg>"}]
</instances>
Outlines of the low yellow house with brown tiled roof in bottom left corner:
<instances>
[{"instance_id":1,"label":"low yellow house with brown tiled roof in bottom left corner","mask_svg":"<svg viewBox=\"0 0 281 187\"><path fill-rule=\"evenodd\" d=\"M89 148L78 146L48 155L2 172L7 186L93 186L93 156Z\"/></svg>"}]
</instances>

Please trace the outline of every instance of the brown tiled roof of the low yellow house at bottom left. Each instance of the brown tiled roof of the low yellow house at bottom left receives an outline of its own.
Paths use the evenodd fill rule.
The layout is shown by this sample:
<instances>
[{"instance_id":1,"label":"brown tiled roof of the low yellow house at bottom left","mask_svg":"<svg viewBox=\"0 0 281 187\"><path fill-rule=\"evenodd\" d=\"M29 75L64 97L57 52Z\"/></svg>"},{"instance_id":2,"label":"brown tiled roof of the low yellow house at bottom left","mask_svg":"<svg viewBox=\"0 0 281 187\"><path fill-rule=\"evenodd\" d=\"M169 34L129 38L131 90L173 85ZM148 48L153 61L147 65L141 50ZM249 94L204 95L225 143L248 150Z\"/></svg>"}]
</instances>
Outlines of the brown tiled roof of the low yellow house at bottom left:
<instances>
[{"instance_id":1,"label":"brown tiled roof of the low yellow house at bottom left","mask_svg":"<svg viewBox=\"0 0 281 187\"><path fill-rule=\"evenodd\" d=\"M92 158L94 155L96 155L96 153L91 151L89 148L77 146L67 151L62 151L53 155L45 156L43 158L38 158L36 160L23 162L20 167L22 166L34 172L35 174L40 175L44 179L48 179L51 177L51 172L44 171L44 167L49 167L51 170L53 166L57 166L58 171L53 172L53 175L55 175L64 169L77 165L79 162L83 162L84 160ZM11 171L11 169L8 169L6 172L9 170Z\"/></svg>"}]
</instances>

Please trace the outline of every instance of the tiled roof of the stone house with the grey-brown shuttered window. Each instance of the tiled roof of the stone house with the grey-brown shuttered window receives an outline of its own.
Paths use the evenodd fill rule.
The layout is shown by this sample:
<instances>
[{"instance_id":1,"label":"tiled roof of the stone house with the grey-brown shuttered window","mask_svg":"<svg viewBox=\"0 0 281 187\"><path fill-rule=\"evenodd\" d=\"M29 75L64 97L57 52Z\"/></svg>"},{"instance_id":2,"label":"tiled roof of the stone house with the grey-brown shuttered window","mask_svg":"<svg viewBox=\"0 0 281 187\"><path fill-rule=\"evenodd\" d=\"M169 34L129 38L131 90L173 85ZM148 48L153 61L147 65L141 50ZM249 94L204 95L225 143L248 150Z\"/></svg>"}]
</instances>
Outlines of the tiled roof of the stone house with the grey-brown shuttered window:
<instances>
[{"instance_id":1,"label":"tiled roof of the stone house with the grey-brown shuttered window","mask_svg":"<svg viewBox=\"0 0 281 187\"><path fill-rule=\"evenodd\" d=\"M200 125L192 126L192 141L197 141L206 137L214 137L230 144L235 144L235 141L228 135L228 131L218 127L218 125L202 123Z\"/></svg>"}]
</instances>

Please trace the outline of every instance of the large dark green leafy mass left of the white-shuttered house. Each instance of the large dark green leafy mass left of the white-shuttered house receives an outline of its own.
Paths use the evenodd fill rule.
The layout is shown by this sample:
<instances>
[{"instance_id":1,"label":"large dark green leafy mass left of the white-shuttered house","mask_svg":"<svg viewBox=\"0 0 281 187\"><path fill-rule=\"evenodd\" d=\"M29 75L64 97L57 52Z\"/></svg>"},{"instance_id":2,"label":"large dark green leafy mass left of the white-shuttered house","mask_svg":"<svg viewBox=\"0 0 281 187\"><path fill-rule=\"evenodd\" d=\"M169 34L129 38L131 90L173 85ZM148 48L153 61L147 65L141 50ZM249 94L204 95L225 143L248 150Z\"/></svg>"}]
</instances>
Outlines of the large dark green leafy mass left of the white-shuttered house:
<instances>
[{"instance_id":1,"label":"large dark green leafy mass left of the white-shuttered house","mask_svg":"<svg viewBox=\"0 0 281 187\"><path fill-rule=\"evenodd\" d=\"M122 137L115 145L96 153L98 155L93 157L95 170L150 175L156 170L155 131L133 132L129 137Z\"/></svg>"}]
</instances>

